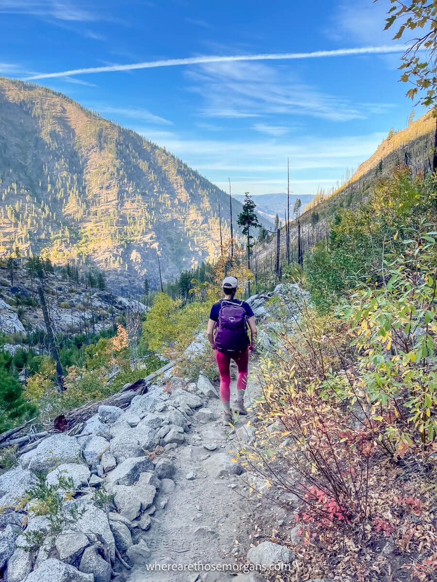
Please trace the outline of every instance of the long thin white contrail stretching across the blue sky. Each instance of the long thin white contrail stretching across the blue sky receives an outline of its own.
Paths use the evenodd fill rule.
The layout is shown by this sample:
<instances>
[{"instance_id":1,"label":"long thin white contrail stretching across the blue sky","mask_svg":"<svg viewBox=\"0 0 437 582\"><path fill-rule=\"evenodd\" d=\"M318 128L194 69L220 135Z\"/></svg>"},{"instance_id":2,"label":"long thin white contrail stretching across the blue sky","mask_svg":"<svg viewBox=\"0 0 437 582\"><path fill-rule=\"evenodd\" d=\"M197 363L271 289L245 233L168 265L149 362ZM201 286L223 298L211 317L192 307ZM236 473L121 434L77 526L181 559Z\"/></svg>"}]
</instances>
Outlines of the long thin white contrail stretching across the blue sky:
<instances>
[{"instance_id":1,"label":"long thin white contrail stretching across the blue sky","mask_svg":"<svg viewBox=\"0 0 437 582\"><path fill-rule=\"evenodd\" d=\"M294 61L297 59L318 59L329 56L388 54L390 52L405 52L407 48L408 47L403 44L393 44L383 45L382 47L340 48L335 51L284 52L276 54L267 53L259 55L231 56L193 56L186 59L165 59L162 61L131 63L130 65L107 65L103 67L89 67L86 69L71 69L57 73L38 73L27 77L27 80L53 79L54 77L65 77L77 74L113 73L115 71L131 71L135 69L156 69L158 67L202 65L204 63L225 63L232 61Z\"/></svg>"}]
</instances>

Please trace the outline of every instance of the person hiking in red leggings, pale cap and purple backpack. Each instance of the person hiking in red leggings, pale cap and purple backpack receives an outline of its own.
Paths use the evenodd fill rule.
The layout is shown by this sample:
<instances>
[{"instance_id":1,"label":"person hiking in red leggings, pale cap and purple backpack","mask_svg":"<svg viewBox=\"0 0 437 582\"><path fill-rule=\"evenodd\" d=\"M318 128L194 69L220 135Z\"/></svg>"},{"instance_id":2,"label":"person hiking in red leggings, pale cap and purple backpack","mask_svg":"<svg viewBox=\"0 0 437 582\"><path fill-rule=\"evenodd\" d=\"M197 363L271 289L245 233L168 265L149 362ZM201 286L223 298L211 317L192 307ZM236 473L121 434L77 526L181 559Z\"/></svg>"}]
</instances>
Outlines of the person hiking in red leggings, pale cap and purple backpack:
<instances>
[{"instance_id":1,"label":"person hiking in red leggings, pale cap and purple backpack","mask_svg":"<svg viewBox=\"0 0 437 582\"><path fill-rule=\"evenodd\" d=\"M225 277L221 286L224 299L217 301L212 306L206 333L210 344L216 350L216 360L220 372L220 398L224 410L223 424L227 425L232 421L230 408L231 360L235 361L238 368L237 400L232 411L247 414L244 407L244 391L247 384L249 350L251 352L253 350L253 342L258 330L251 306L245 301L235 299L238 288L237 279Z\"/></svg>"}]
</instances>

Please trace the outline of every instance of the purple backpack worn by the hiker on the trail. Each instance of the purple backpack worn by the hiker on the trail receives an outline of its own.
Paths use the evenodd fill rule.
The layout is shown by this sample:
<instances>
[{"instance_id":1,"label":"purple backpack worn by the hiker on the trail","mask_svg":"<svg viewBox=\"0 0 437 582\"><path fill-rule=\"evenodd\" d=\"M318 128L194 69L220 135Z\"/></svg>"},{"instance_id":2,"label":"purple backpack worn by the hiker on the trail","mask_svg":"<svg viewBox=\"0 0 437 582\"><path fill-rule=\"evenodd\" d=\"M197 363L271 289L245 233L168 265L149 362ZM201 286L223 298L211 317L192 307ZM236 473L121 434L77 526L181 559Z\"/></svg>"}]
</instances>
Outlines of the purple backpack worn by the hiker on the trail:
<instances>
[{"instance_id":1,"label":"purple backpack worn by the hiker on the trail","mask_svg":"<svg viewBox=\"0 0 437 582\"><path fill-rule=\"evenodd\" d=\"M225 353L242 352L248 347L247 315L242 301L220 301L215 343L216 349Z\"/></svg>"}]
</instances>

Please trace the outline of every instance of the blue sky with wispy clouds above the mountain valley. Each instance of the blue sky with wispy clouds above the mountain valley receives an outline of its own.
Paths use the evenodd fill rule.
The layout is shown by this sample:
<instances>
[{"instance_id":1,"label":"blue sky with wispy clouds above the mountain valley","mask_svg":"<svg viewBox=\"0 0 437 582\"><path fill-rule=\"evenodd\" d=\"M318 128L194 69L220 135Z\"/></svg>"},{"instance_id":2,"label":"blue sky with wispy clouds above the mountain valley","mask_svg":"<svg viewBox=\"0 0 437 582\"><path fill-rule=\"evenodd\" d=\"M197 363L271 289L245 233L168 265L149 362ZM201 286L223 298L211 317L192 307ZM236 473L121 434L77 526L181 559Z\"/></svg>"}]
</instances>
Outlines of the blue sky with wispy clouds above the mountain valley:
<instances>
[{"instance_id":1,"label":"blue sky with wispy clouds above the mountain valley","mask_svg":"<svg viewBox=\"0 0 437 582\"><path fill-rule=\"evenodd\" d=\"M356 168L390 127L407 123L413 104L398 82L399 49L343 55L394 45L393 33L383 32L389 6L0 0L0 74L37 77L167 147L218 186L230 177L235 194L285 191L287 156L291 190L311 194ZM316 54L130 66L290 53ZM103 70L87 70L96 68Z\"/></svg>"}]
</instances>

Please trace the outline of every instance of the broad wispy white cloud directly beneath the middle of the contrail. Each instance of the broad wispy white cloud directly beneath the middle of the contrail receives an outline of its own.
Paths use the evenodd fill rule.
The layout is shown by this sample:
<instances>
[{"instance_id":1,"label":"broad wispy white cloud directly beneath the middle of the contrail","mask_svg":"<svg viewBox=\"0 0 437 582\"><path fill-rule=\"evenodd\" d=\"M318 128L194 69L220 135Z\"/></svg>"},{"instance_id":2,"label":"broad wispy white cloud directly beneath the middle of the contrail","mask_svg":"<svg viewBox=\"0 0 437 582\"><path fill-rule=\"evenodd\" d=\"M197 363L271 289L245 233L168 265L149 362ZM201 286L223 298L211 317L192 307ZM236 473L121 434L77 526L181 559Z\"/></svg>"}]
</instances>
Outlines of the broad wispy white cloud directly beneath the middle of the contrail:
<instances>
[{"instance_id":1,"label":"broad wispy white cloud directly beneath the middle of the contrail","mask_svg":"<svg viewBox=\"0 0 437 582\"><path fill-rule=\"evenodd\" d=\"M266 63L207 63L186 73L189 91L204 101L199 115L251 118L280 115L281 123L258 123L253 129L271 136L286 133L284 116L305 115L335 122L365 119L385 104L353 104L302 83L288 68ZM223 107L225 104L225 108Z\"/></svg>"}]
</instances>

